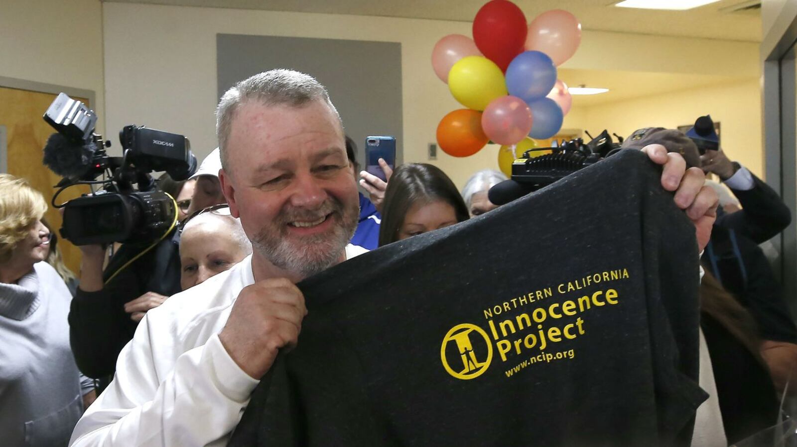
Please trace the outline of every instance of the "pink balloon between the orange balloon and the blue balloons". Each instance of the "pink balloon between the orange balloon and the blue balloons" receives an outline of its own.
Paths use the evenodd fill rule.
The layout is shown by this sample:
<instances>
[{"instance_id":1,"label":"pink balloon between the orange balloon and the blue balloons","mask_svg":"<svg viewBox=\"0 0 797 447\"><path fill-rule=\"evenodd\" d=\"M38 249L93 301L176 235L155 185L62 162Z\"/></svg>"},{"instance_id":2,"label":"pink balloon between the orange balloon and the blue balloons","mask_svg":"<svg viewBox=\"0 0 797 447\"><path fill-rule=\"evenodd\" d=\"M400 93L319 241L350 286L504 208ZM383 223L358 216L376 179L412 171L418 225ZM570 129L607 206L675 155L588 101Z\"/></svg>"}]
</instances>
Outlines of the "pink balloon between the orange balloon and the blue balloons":
<instances>
[{"instance_id":1,"label":"pink balloon between the orange balloon and the blue balloons","mask_svg":"<svg viewBox=\"0 0 797 447\"><path fill-rule=\"evenodd\" d=\"M481 114L481 129L495 143L516 144L532 130L532 111L523 99L501 96Z\"/></svg>"}]
</instances>

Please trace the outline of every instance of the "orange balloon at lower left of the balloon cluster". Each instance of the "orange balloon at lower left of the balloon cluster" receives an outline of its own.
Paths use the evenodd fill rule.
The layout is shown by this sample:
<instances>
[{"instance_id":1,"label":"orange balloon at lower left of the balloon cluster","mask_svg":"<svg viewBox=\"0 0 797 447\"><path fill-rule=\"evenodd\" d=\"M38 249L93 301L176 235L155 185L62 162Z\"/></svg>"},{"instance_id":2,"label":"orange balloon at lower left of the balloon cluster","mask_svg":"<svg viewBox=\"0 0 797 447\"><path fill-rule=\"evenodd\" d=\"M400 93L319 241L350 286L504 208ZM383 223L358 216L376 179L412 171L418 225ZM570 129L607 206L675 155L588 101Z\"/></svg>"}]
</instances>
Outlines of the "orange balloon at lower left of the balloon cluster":
<instances>
[{"instance_id":1,"label":"orange balloon at lower left of the balloon cluster","mask_svg":"<svg viewBox=\"0 0 797 447\"><path fill-rule=\"evenodd\" d=\"M476 154L489 142L481 130L481 112L459 109L444 116L438 124L438 145L453 157Z\"/></svg>"}]
</instances>

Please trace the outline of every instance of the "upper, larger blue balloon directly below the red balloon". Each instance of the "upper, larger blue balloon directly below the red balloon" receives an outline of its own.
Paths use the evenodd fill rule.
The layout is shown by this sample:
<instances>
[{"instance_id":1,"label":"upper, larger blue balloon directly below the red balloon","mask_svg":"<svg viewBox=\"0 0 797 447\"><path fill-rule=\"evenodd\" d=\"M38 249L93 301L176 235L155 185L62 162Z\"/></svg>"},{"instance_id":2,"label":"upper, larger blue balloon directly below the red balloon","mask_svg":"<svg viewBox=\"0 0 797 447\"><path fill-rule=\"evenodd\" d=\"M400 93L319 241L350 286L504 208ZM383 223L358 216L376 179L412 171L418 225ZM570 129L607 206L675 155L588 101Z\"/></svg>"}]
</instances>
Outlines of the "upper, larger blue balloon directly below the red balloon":
<instances>
[{"instance_id":1,"label":"upper, larger blue balloon directly below the red balloon","mask_svg":"<svg viewBox=\"0 0 797 447\"><path fill-rule=\"evenodd\" d=\"M556 65L539 51L521 52L506 69L506 88L509 95L527 103L544 98L556 84Z\"/></svg>"}]
</instances>

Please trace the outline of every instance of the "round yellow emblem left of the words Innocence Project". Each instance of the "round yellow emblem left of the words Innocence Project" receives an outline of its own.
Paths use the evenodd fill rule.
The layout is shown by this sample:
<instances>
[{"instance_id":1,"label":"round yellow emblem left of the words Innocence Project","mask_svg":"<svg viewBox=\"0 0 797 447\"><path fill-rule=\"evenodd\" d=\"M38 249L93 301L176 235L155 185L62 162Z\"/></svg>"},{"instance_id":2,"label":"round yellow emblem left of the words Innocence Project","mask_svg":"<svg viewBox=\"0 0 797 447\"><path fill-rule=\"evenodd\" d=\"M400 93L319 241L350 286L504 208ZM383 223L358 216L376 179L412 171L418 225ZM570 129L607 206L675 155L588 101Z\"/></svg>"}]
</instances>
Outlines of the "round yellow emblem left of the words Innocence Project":
<instances>
[{"instance_id":1,"label":"round yellow emblem left of the words Innocence Project","mask_svg":"<svg viewBox=\"0 0 797 447\"><path fill-rule=\"evenodd\" d=\"M479 346L478 350L473 349L474 341ZM481 348L482 342L486 346L485 349ZM454 362L453 367L449 364L448 356L446 356L446 348L451 343L456 345L462 360L461 364ZM462 380L475 379L484 374L487 367L490 366L490 362L493 360L493 344L490 342L487 332L477 325L469 323L456 325L443 338L443 344L440 347L440 360L442 360L446 371L453 377Z\"/></svg>"}]
</instances>

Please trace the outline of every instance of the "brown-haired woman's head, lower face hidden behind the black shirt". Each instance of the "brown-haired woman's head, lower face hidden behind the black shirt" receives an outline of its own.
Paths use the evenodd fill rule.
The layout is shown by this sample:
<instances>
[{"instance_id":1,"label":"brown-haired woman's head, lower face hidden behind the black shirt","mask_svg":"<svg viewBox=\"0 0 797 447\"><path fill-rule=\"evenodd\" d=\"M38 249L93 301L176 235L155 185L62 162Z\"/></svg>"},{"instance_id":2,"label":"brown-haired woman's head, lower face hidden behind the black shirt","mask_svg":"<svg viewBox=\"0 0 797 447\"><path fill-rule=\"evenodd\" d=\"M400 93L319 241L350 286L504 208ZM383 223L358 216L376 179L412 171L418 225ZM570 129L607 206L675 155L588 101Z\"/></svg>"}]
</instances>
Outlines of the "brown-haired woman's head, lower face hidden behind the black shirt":
<instances>
[{"instance_id":1,"label":"brown-haired woman's head, lower face hidden behind the black shirt","mask_svg":"<svg viewBox=\"0 0 797 447\"><path fill-rule=\"evenodd\" d=\"M379 247L468 217L468 207L446 173L425 163L401 165L387 182Z\"/></svg>"}]
</instances>

